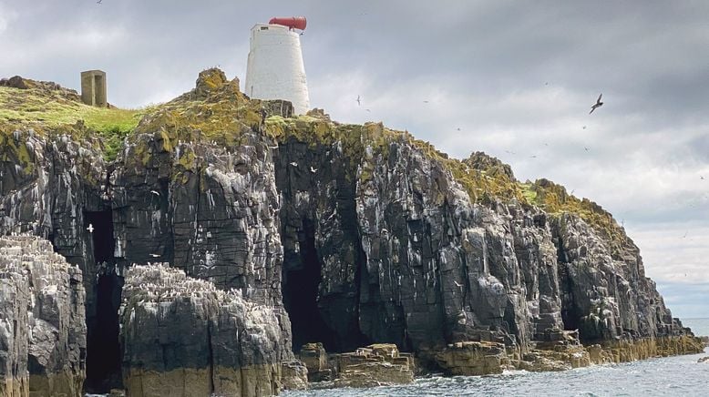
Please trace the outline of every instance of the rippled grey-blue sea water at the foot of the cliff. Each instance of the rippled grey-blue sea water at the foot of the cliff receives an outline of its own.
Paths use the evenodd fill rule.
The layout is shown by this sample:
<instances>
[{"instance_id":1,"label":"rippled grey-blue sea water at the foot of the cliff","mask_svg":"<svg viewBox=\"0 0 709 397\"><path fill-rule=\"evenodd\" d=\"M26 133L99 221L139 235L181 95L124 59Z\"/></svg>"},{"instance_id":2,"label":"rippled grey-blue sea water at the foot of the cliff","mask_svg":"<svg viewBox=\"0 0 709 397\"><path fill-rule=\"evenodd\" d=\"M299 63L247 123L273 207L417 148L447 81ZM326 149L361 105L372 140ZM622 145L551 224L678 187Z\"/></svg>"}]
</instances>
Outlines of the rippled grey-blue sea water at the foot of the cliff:
<instances>
[{"instance_id":1,"label":"rippled grey-blue sea water at the foot of the cliff","mask_svg":"<svg viewBox=\"0 0 709 397\"><path fill-rule=\"evenodd\" d=\"M709 319L682 321L709 335ZM511 371L492 376L430 377L405 386L284 392L301 396L709 396L709 362L693 354L596 365L566 372Z\"/></svg>"}]
</instances>

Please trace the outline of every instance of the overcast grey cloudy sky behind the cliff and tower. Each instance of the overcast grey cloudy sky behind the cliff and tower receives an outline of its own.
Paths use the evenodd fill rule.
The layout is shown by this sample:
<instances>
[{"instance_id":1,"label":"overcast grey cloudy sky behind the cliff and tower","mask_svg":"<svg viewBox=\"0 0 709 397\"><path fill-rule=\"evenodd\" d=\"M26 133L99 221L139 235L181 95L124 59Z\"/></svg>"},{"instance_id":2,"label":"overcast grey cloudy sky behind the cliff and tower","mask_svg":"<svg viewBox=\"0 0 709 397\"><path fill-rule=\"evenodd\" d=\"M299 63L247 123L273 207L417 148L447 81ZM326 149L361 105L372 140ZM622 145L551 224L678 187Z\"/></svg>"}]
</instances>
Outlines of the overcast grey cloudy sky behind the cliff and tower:
<instances>
[{"instance_id":1,"label":"overcast grey cloudy sky behind the cliff and tower","mask_svg":"<svg viewBox=\"0 0 709 397\"><path fill-rule=\"evenodd\" d=\"M709 2L341 3L0 0L0 76L103 69L109 102L141 107L210 66L243 81L252 25L305 15L313 107L595 200L673 314L709 317Z\"/></svg>"}]
</instances>

